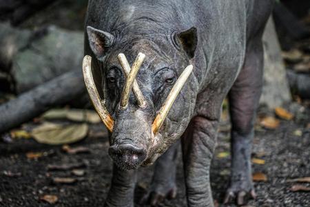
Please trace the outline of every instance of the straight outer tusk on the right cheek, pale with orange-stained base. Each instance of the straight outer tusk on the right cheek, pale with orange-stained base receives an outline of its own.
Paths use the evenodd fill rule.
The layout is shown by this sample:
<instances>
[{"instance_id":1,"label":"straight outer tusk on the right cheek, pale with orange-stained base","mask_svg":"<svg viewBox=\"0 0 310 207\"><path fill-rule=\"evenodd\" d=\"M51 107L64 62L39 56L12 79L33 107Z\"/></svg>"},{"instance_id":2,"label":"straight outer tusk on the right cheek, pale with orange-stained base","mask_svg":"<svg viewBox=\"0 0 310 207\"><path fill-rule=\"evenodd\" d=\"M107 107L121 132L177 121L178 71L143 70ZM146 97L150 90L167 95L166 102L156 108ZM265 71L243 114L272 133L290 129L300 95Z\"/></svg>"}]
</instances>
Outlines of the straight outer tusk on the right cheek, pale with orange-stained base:
<instances>
[{"instance_id":1,"label":"straight outer tusk on the right cheek, pale with orange-stained base","mask_svg":"<svg viewBox=\"0 0 310 207\"><path fill-rule=\"evenodd\" d=\"M185 70L182 72L182 74L180 75L180 77L178 77L178 80L174 84L174 87L172 88L172 90L169 92L167 99L163 103L161 110L159 110L152 124L152 132L154 133L154 135L158 132L158 130L163 125L163 121L165 121L165 118L167 117L168 112L170 108L172 107L172 104L176 100L176 97L178 96L180 90L183 88L185 81L188 79L192 70L193 70L192 65L187 66Z\"/></svg>"}]
</instances>

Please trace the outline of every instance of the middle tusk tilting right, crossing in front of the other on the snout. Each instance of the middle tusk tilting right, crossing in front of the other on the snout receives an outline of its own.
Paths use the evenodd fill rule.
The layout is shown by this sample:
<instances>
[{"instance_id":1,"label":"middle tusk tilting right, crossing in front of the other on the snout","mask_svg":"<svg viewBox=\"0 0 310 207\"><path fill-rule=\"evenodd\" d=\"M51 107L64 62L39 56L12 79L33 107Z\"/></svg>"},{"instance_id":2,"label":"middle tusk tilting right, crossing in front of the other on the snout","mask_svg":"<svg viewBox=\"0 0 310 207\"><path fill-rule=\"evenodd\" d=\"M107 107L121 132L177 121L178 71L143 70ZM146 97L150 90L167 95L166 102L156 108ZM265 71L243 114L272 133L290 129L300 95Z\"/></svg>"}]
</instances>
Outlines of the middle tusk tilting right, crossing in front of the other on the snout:
<instances>
[{"instance_id":1,"label":"middle tusk tilting right, crossing in front of the other on the snout","mask_svg":"<svg viewBox=\"0 0 310 207\"><path fill-rule=\"evenodd\" d=\"M138 70L140 69L143 63L144 58L145 58L145 55L139 52L138 56L136 57L136 60L134 61L134 64L132 65L132 70L130 70L130 73L128 74L128 77L125 81L125 86L123 88L123 92L121 95L121 108L126 108L128 105L128 100L130 97L130 91L132 90L132 85L134 83L134 80L136 79L136 75L138 74Z\"/></svg>"}]
</instances>

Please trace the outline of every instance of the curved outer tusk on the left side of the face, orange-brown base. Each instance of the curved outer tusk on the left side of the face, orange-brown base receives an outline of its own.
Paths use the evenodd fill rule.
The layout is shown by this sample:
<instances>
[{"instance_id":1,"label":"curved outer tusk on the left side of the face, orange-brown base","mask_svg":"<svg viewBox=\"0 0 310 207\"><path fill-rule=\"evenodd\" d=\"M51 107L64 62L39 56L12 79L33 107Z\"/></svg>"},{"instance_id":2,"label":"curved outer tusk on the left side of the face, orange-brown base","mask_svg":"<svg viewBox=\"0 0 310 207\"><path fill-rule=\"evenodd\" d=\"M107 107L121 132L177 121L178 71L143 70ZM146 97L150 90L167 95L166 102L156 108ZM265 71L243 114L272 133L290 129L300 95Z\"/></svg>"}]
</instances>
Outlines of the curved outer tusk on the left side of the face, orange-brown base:
<instances>
[{"instance_id":1,"label":"curved outer tusk on the left side of the face, orange-brown base","mask_svg":"<svg viewBox=\"0 0 310 207\"><path fill-rule=\"evenodd\" d=\"M83 59L83 76L87 92L90 95L90 99L92 100L94 108L96 109L105 126L107 126L107 129L112 132L114 120L110 113L107 111L107 108L105 108L105 106L101 103L99 93L96 89L96 85L92 77L92 57L89 55L85 55Z\"/></svg>"}]
</instances>

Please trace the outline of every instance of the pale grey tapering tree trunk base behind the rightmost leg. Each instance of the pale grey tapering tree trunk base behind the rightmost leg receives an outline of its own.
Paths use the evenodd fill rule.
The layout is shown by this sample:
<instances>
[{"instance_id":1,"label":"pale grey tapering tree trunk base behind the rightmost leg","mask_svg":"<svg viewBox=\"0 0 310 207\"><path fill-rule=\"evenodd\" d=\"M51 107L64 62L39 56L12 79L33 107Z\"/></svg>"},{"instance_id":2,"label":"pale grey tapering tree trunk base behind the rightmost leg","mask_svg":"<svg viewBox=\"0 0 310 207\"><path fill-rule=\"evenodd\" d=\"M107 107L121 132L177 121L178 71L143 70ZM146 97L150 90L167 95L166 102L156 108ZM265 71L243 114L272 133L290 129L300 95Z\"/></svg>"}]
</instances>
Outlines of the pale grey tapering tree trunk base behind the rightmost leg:
<instances>
[{"instance_id":1,"label":"pale grey tapering tree trunk base behind the rightmost leg","mask_svg":"<svg viewBox=\"0 0 310 207\"><path fill-rule=\"evenodd\" d=\"M265 48L265 63L264 85L262 87L260 103L265 103L272 109L291 101L285 66L282 61L280 45L272 18L267 23L262 39Z\"/></svg>"}]
</instances>

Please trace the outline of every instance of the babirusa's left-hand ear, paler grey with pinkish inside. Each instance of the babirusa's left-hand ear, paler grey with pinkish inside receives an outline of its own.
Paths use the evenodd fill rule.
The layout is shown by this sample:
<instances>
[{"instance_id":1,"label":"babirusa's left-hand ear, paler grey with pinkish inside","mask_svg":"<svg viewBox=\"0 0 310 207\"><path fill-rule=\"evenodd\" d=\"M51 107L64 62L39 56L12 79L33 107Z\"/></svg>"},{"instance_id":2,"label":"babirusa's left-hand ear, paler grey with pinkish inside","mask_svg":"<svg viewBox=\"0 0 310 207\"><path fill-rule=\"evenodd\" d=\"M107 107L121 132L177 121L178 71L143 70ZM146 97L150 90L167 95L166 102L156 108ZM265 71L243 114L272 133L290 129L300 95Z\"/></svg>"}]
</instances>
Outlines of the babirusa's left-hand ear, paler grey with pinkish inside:
<instances>
[{"instance_id":1,"label":"babirusa's left-hand ear, paler grey with pinkish inside","mask_svg":"<svg viewBox=\"0 0 310 207\"><path fill-rule=\"evenodd\" d=\"M91 26L87 26L86 30L92 52L94 52L94 55L96 55L98 59L102 58L105 52L107 52L107 48L113 45L115 40L114 36L109 32L103 32Z\"/></svg>"}]
</instances>

